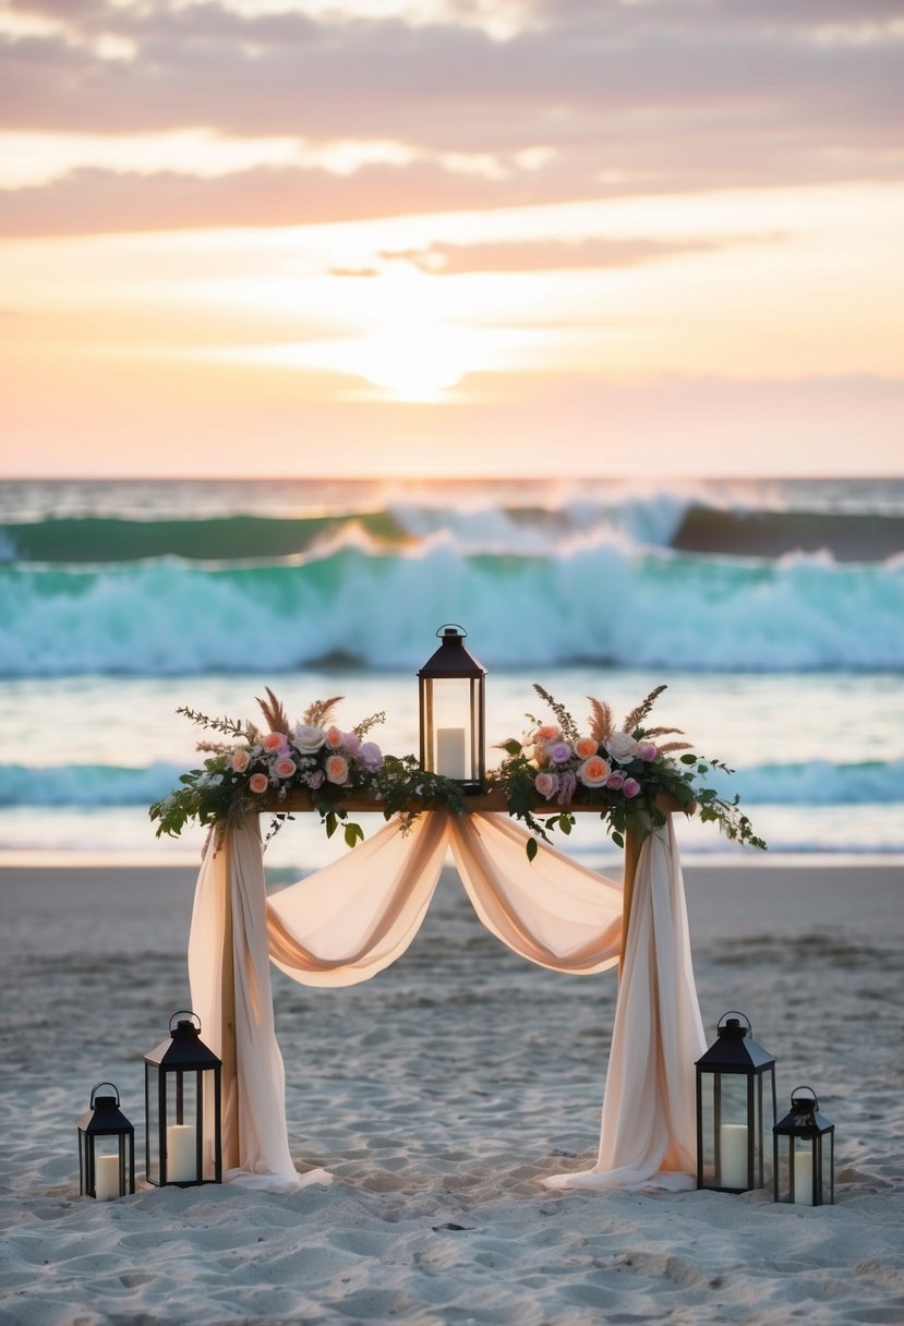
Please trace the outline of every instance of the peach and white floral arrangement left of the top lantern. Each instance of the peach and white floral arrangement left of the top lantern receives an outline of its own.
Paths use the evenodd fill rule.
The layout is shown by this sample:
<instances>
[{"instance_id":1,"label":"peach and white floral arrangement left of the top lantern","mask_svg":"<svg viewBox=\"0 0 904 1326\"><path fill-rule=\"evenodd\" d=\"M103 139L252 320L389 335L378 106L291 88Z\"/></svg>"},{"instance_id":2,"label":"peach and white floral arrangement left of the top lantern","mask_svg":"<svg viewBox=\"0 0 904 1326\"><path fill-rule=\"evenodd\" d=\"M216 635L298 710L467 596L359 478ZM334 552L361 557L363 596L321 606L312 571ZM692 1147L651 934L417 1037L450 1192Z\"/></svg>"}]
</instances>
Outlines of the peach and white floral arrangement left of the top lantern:
<instances>
[{"instance_id":1,"label":"peach and white floral arrangement left of the top lantern","mask_svg":"<svg viewBox=\"0 0 904 1326\"><path fill-rule=\"evenodd\" d=\"M319 812L321 822L331 837L347 812L337 805L342 793L376 792L376 778L383 768L383 753L367 733L384 719L374 713L343 732L331 723L335 695L309 705L300 723L292 724L282 704L266 687L266 699L258 704L268 724L261 731L253 723L232 719L208 719L195 709L179 708L192 723L229 737L229 741L199 741L207 754L200 769L180 777L176 788L150 809L158 821L156 835L178 837L188 819L213 825L217 835L239 817L260 809L274 809L268 838L280 827L288 812L280 802L297 792L308 794ZM350 847L363 838L361 825L346 822L345 839Z\"/></svg>"}]
</instances>

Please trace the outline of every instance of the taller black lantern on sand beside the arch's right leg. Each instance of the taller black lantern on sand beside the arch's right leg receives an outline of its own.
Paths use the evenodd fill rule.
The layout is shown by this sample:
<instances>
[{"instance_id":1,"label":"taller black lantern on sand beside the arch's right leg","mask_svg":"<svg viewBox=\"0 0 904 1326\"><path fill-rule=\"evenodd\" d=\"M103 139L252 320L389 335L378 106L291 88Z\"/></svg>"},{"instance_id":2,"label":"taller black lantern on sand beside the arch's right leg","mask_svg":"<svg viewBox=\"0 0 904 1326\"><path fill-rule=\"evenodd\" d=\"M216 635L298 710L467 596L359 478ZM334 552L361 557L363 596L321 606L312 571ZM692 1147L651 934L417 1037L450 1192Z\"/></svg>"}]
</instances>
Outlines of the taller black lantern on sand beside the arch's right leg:
<instances>
[{"instance_id":1,"label":"taller black lantern on sand beside the arch's right leg","mask_svg":"<svg viewBox=\"0 0 904 1326\"><path fill-rule=\"evenodd\" d=\"M741 1018L744 1021L741 1021ZM775 1057L744 1013L722 1013L717 1041L697 1059L697 1188L763 1185L763 1114L775 1123Z\"/></svg>"}]
</instances>

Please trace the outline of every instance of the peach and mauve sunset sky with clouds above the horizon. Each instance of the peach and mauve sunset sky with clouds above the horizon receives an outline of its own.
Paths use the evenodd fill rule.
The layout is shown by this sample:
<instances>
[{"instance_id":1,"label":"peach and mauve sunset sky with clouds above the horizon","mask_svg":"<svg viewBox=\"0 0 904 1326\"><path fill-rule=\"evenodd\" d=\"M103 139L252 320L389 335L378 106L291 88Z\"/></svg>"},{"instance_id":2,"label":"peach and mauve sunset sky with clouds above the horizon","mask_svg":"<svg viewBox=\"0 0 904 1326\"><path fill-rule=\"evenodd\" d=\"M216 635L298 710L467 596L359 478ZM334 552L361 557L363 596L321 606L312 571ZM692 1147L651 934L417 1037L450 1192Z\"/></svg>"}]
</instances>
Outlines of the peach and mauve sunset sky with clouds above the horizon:
<instances>
[{"instance_id":1,"label":"peach and mauve sunset sky with clouds above the horizon","mask_svg":"<svg viewBox=\"0 0 904 1326\"><path fill-rule=\"evenodd\" d=\"M903 475L901 0L0 0L0 473Z\"/></svg>"}]
</instances>

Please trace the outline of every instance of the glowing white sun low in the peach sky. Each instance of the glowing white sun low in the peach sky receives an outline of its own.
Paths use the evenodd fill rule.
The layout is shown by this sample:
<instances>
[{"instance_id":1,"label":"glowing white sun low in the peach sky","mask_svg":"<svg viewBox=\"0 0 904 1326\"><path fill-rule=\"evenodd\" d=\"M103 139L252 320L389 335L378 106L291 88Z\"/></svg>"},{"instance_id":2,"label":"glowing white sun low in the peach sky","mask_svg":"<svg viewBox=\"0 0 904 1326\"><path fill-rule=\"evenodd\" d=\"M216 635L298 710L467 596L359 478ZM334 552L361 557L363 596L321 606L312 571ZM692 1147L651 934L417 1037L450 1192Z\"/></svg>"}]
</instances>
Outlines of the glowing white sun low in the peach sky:
<instances>
[{"instance_id":1,"label":"glowing white sun low in the peach sky","mask_svg":"<svg viewBox=\"0 0 904 1326\"><path fill-rule=\"evenodd\" d=\"M355 347L357 371L398 400L440 400L472 362L464 332L435 324L386 322Z\"/></svg>"}]
</instances>

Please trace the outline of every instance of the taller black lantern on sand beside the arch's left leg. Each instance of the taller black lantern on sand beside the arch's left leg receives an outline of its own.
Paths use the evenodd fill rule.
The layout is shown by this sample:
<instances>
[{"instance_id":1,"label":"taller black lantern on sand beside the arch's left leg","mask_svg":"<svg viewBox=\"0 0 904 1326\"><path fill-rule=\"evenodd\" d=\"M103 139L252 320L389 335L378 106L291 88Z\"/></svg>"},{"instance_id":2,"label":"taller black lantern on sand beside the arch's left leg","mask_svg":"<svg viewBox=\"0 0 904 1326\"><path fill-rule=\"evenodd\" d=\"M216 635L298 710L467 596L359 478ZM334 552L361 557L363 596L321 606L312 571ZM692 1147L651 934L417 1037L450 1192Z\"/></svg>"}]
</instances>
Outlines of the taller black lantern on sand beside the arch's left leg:
<instances>
[{"instance_id":1,"label":"taller black lantern on sand beside the arch's left leg","mask_svg":"<svg viewBox=\"0 0 904 1326\"><path fill-rule=\"evenodd\" d=\"M221 1063L200 1030L182 1009L170 1038L144 1055L146 1176L158 1187L223 1181Z\"/></svg>"}]
</instances>

